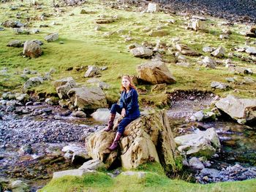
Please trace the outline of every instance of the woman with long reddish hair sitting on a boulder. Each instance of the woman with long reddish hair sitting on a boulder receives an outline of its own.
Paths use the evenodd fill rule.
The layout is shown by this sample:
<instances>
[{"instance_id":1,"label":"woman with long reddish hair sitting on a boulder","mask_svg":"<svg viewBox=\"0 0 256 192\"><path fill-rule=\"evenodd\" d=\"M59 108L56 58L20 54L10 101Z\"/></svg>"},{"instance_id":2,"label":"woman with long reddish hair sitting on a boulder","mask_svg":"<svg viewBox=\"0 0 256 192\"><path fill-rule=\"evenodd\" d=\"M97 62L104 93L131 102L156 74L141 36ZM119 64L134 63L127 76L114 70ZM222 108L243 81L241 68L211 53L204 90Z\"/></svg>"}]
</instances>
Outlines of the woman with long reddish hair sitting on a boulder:
<instances>
[{"instance_id":1,"label":"woman with long reddish hair sitting on a boulder","mask_svg":"<svg viewBox=\"0 0 256 192\"><path fill-rule=\"evenodd\" d=\"M118 124L118 130L116 132L116 137L108 149L115 150L118 146L118 141L121 135L124 133L124 128L140 117L140 110L138 104L138 93L136 91L135 85L133 85L129 75L124 75L121 80L121 98L120 104L113 104L110 110L110 118L108 121L108 127L104 131L110 131L113 128L113 121L116 117L116 112L121 114L123 119Z\"/></svg>"}]
</instances>

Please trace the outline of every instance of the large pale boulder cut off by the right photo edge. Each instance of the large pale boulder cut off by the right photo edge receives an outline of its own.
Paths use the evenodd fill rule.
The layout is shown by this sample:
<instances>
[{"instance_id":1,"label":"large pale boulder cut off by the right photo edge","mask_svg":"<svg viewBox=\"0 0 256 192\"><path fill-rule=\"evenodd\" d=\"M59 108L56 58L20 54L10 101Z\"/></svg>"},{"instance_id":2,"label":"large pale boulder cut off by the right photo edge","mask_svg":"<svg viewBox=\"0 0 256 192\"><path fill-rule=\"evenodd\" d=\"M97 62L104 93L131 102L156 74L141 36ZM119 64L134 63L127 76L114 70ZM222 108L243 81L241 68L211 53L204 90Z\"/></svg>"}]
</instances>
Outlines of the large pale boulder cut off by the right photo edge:
<instances>
[{"instance_id":1,"label":"large pale boulder cut off by the right photo edge","mask_svg":"<svg viewBox=\"0 0 256 192\"><path fill-rule=\"evenodd\" d=\"M215 105L219 110L227 113L238 122L241 122L241 120L256 120L256 99L238 99L235 96L228 95L217 101Z\"/></svg>"}]
</instances>

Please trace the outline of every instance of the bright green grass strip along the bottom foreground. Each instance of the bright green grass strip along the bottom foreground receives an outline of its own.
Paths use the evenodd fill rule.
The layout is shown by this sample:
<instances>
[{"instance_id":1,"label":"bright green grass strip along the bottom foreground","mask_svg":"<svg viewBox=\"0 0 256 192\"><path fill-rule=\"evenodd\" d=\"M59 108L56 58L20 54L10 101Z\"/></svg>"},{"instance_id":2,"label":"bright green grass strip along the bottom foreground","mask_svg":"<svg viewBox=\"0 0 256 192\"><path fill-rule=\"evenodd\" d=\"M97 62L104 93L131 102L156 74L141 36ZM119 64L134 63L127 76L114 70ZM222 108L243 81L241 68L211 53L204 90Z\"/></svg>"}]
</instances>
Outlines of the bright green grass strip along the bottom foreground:
<instances>
[{"instance_id":1,"label":"bright green grass strip along the bottom foreground","mask_svg":"<svg viewBox=\"0 0 256 192\"><path fill-rule=\"evenodd\" d=\"M224 182L215 184L187 183L183 180L170 180L164 174L146 172L146 177L118 175L111 178L105 173L86 174L83 177L65 176L51 180L41 192L61 191L255 191L256 180Z\"/></svg>"}]
</instances>

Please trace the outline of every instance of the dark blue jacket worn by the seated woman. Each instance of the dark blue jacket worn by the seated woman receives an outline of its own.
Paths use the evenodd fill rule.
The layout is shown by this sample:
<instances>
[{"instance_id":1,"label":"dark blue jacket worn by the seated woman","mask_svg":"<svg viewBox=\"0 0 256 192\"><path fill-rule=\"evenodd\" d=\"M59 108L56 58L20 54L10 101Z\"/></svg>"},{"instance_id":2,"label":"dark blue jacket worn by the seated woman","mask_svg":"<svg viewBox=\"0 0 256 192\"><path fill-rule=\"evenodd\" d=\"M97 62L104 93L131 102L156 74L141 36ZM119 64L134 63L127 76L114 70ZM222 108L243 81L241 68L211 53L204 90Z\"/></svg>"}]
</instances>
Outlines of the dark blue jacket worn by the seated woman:
<instances>
[{"instance_id":1,"label":"dark blue jacket worn by the seated woman","mask_svg":"<svg viewBox=\"0 0 256 192\"><path fill-rule=\"evenodd\" d=\"M138 104L138 93L134 88L131 88L127 94L126 91L121 92L120 107L126 110L127 118L140 117L140 110Z\"/></svg>"}]
</instances>

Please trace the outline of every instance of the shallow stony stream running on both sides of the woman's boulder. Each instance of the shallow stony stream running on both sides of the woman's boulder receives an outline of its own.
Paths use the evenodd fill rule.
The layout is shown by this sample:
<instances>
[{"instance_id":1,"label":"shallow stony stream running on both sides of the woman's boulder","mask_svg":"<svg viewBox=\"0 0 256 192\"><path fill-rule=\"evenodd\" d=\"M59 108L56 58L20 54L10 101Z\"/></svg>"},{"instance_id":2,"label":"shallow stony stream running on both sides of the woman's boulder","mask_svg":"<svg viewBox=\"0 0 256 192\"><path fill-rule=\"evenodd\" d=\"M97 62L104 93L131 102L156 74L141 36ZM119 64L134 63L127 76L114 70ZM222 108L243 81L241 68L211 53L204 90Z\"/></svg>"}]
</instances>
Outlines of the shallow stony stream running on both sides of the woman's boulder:
<instances>
[{"instance_id":1,"label":"shallow stony stream running on both sides of the woman's boulder","mask_svg":"<svg viewBox=\"0 0 256 192\"><path fill-rule=\"evenodd\" d=\"M212 93L173 93L170 96L172 106L166 112L174 136L194 133L198 128L214 127L222 148L209 160L208 168L223 170L238 164L246 169L252 167L253 173L255 170L252 176L256 177L256 132L253 130L256 126L239 125L225 119L204 123L189 121L193 113L208 107L215 97ZM0 109L5 108L2 105ZM69 110L43 102L20 108L29 112L17 115L1 110L0 179L23 180L31 186L31 191L37 191L48 183L53 172L78 168L82 162L72 164L70 159L64 158L61 149L67 145L84 148L84 139L105 127L92 118L73 118ZM43 112L38 113L39 110ZM198 177L197 172L195 177ZM243 177L245 180L251 175ZM243 180L242 177L239 180ZM215 181L198 179L197 182Z\"/></svg>"}]
</instances>

